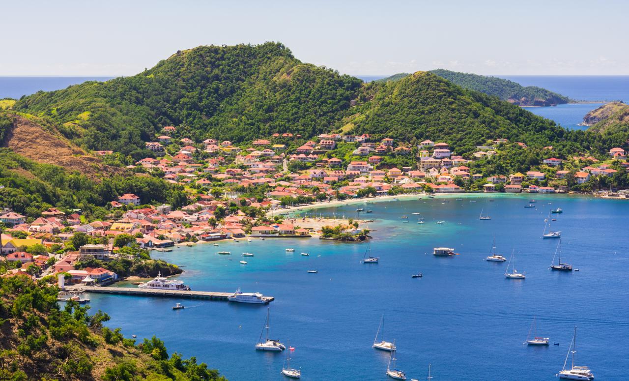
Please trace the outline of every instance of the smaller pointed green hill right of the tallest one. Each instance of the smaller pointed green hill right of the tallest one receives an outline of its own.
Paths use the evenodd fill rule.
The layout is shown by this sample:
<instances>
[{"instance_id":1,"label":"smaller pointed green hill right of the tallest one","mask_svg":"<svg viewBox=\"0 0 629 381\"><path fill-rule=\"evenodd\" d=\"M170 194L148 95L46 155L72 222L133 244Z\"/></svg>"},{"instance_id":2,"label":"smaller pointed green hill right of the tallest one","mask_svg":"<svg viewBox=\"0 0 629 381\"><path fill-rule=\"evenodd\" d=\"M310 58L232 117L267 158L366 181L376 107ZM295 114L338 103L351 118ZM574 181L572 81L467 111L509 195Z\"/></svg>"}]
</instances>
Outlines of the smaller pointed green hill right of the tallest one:
<instances>
[{"instance_id":1,"label":"smaller pointed green hill right of the tallest one","mask_svg":"<svg viewBox=\"0 0 629 381\"><path fill-rule=\"evenodd\" d=\"M344 121L353 125L355 134L366 132L403 141L443 140L455 145L457 152L466 152L488 139L543 146L564 139L567 133L550 120L460 88L430 72L372 82L364 96L365 102Z\"/></svg>"}]
</instances>

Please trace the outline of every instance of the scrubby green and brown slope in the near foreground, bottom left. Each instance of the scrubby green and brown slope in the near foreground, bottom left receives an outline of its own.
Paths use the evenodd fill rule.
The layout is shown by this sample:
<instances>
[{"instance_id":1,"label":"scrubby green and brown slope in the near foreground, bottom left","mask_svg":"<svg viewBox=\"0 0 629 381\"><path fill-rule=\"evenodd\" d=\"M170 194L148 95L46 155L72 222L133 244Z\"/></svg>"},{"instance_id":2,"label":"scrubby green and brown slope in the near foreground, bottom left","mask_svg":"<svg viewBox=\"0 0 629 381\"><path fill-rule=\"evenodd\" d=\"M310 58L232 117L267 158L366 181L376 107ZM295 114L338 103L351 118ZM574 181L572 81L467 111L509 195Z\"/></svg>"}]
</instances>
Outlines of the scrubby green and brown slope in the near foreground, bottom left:
<instances>
[{"instance_id":1,"label":"scrubby green and brown slope in the near foreground, bottom left","mask_svg":"<svg viewBox=\"0 0 629 381\"><path fill-rule=\"evenodd\" d=\"M194 357L169 356L155 336L139 344L123 338L103 327L107 314L88 309L75 302L60 309L57 287L43 280L0 277L0 379L225 381Z\"/></svg>"}]
</instances>

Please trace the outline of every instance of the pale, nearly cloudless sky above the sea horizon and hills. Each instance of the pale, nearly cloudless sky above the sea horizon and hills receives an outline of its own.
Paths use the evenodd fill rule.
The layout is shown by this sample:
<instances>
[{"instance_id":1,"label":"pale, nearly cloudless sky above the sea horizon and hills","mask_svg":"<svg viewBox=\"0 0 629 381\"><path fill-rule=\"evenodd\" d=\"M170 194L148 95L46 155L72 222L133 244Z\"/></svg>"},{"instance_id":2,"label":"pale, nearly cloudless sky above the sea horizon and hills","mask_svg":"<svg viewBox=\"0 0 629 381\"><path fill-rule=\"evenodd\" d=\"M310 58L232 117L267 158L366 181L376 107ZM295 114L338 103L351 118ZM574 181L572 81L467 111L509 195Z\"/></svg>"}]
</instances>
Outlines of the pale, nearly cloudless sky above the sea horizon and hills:
<instances>
[{"instance_id":1,"label":"pale, nearly cloudless sky above the sea horizon and hills","mask_svg":"<svg viewBox=\"0 0 629 381\"><path fill-rule=\"evenodd\" d=\"M629 1L1 1L0 76L128 76L199 45L282 42L344 74L629 74Z\"/></svg>"}]
</instances>

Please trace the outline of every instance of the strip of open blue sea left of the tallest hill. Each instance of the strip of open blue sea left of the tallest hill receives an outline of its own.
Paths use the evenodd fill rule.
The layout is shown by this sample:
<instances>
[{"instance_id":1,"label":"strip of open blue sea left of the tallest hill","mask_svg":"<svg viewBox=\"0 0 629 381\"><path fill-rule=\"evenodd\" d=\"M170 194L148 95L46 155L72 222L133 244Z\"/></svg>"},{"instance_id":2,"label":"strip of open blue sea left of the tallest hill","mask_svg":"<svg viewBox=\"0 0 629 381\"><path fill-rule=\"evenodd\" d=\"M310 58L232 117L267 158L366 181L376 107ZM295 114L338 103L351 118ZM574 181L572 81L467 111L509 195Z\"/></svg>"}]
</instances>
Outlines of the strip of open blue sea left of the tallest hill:
<instances>
[{"instance_id":1,"label":"strip of open blue sea left of the tallest hill","mask_svg":"<svg viewBox=\"0 0 629 381\"><path fill-rule=\"evenodd\" d=\"M114 77L1 77L0 99L19 99L23 95L30 95L37 91L53 91L65 89L72 84L85 81L107 81Z\"/></svg>"}]
</instances>

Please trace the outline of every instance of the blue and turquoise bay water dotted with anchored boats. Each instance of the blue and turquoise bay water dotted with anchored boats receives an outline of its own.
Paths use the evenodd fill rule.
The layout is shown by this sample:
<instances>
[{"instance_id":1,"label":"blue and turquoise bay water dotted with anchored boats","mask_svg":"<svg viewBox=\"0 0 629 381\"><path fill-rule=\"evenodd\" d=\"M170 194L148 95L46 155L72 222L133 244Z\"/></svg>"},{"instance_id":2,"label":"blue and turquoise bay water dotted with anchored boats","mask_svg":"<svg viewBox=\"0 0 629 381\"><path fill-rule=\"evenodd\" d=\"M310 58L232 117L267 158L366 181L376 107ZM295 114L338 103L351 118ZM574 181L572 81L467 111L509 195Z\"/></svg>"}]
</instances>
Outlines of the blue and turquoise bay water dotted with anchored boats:
<instances>
[{"instance_id":1,"label":"blue and turquoise bay water dotted with anchored boats","mask_svg":"<svg viewBox=\"0 0 629 381\"><path fill-rule=\"evenodd\" d=\"M435 380L553 380L576 325L579 363L597 380L620 380L618 370L629 366L629 203L538 195L537 208L529 209L523 208L525 195L456 197L361 205L374 211L362 217L376 219L370 228L376 229L372 249L379 264L360 263L365 244L318 239L200 244L154 256L184 266L179 278L194 290L241 287L276 297L271 336L296 348L291 365L301 367L303 380L386 380L388 355L371 348L383 311L386 338L396 340L398 367L409 378L425 378L432 363ZM548 270L557 241L541 235L545 217L557 207L564 209L553 216L553 229L564 232L562 259L581 271ZM351 217L356 208L309 213ZM478 219L481 208L492 220ZM418 217L425 224L417 224ZM515 248L516 268L526 280L506 280L506 263L483 260L494 235L499 253L509 256ZM435 246L455 247L460 255L437 258L431 255ZM233 261L218 250L231 251ZM255 254L246 266L238 263L244 252ZM411 278L417 271L424 277ZM108 312L108 325L122 327L126 336L155 334L171 352L197 356L230 380L282 379L284 355L253 349L264 305L91 298L92 309ZM175 302L186 309L171 310ZM559 346L522 345L533 316L538 333Z\"/></svg>"}]
</instances>

